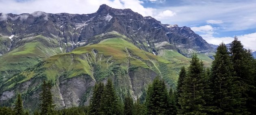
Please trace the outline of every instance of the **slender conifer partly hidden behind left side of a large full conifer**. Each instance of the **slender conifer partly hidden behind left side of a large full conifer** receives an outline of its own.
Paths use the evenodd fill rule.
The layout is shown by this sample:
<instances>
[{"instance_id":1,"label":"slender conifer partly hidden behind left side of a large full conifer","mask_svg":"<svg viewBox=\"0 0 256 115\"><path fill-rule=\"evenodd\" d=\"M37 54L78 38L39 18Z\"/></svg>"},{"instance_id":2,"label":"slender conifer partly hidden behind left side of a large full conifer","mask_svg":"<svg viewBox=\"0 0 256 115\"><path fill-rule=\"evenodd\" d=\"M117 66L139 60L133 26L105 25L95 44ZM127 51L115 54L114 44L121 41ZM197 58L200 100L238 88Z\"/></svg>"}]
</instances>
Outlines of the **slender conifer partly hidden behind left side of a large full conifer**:
<instances>
[{"instance_id":1,"label":"slender conifer partly hidden behind left side of a large full conifer","mask_svg":"<svg viewBox=\"0 0 256 115\"><path fill-rule=\"evenodd\" d=\"M178 83L177 83L177 99L180 98L180 94L182 93L181 87L183 85L183 81L186 76L187 76L186 68L182 66L182 68L180 69L180 74L179 74ZM176 105L177 105L177 109L181 109L179 103L177 103Z\"/></svg>"}]
</instances>

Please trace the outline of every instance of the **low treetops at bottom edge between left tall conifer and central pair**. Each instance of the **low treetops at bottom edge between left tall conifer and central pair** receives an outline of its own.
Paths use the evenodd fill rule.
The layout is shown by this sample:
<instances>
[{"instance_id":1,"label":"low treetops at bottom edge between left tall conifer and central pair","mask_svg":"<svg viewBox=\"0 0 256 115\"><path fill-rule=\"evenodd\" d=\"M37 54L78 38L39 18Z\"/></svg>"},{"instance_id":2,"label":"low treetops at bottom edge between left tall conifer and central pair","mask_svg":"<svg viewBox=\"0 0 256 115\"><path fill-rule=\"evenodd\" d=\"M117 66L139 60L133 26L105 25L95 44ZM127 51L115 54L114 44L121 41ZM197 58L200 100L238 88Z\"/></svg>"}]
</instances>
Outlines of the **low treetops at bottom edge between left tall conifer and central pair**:
<instances>
[{"instance_id":1,"label":"low treetops at bottom edge between left tall conifer and central pair","mask_svg":"<svg viewBox=\"0 0 256 115\"><path fill-rule=\"evenodd\" d=\"M77 106L71 107L67 109L61 109L57 111L57 115L91 115L87 114L89 107L87 106ZM99 115L99 114L98 114Z\"/></svg>"}]
</instances>

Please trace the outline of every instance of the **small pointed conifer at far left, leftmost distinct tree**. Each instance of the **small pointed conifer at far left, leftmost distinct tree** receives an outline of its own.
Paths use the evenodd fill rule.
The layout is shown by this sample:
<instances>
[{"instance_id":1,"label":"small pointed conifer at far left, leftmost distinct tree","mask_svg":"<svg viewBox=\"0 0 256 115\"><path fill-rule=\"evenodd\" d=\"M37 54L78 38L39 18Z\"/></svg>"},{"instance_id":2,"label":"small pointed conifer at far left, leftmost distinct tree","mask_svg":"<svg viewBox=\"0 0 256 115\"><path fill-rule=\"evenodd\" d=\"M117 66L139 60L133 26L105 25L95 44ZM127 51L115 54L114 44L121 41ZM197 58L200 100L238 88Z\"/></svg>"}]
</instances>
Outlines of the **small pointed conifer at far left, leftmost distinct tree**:
<instances>
[{"instance_id":1,"label":"small pointed conifer at far left, leftmost distinct tree","mask_svg":"<svg viewBox=\"0 0 256 115\"><path fill-rule=\"evenodd\" d=\"M18 94L18 96L17 96L16 102L15 102L15 107L13 110L14 110L15 115L23 115L24 114L22 98L21 98L20 94Z\"/></svg>"}]
</instances>

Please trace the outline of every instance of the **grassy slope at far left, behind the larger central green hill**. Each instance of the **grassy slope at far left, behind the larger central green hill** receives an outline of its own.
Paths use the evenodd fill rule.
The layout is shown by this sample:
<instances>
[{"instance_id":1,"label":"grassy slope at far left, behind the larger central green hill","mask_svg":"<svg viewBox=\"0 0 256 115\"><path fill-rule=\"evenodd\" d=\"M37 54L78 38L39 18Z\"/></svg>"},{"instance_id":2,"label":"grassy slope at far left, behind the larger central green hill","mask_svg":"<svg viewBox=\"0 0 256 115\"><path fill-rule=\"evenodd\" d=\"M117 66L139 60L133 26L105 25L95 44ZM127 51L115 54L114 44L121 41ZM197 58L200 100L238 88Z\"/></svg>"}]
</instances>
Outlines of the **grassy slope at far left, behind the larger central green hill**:
<instances>
[{"instance_id":1,"label":"grassy slope at far left, behind the larger central green hill","mask_svg":"<svg viewBox=\"0 0 256 115\"><path fill-rule=\"evenodd\" d=\"M3 81L17 72L36 65L43 59L61 53L57 42L43 36L35 36L30 39L23 39L24 45L0 57L0 78ZM52 46L46 46L50 44ZM4 78L4 79L3 79Z\"/></svg>"}]
</instances>

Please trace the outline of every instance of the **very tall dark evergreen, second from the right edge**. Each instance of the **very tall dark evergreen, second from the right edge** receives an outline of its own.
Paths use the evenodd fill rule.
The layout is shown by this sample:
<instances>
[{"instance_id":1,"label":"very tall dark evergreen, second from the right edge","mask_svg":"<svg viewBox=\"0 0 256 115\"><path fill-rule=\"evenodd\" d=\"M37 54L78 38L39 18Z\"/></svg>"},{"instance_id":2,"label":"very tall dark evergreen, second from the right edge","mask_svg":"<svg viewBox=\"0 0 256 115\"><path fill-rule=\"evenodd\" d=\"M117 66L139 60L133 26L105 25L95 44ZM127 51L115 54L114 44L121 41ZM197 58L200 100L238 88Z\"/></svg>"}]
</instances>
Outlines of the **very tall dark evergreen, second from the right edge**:
<instances>
[{"instance_id":1,"label":"very tall dark evergreen, second from the right edge","mask_svg":"<svg viewBox=\"0 0 256 115\"><path fill-rule=\"evenodd\" d=\"M212 63L211 87L214 105L219 108L216 114L245 114L243 98L234 77L234 69L228 49L224 43L217 48L215 60Z\"/></svg>"}]
</instances>

